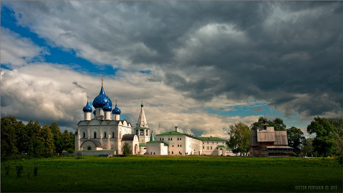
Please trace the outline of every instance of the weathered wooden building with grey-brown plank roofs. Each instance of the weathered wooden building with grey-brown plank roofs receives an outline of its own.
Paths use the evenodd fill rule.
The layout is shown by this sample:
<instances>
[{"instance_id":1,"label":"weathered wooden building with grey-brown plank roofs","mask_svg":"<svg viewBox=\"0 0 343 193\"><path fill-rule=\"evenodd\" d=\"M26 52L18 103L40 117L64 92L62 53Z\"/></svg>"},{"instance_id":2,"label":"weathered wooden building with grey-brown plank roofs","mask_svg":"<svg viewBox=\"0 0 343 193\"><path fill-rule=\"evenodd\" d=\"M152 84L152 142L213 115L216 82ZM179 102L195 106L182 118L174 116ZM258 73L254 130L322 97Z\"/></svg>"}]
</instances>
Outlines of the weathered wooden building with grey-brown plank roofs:
<instances>
[{"instance_id":1,"label":"weathered wooden building with grey-brown plank roofs","mask_svg":"<svg viewBox=\"0 0 343 193\"><path fill-rule=\"evenodd\" d=\"M252 131L249 142L249 155L254 157L266 156L289 156L293 148L288 146L287 132L274 131L274 127L268 127L266 119L263 127Z\"/></svg>"}]
</instances>

